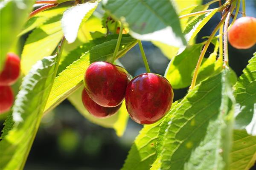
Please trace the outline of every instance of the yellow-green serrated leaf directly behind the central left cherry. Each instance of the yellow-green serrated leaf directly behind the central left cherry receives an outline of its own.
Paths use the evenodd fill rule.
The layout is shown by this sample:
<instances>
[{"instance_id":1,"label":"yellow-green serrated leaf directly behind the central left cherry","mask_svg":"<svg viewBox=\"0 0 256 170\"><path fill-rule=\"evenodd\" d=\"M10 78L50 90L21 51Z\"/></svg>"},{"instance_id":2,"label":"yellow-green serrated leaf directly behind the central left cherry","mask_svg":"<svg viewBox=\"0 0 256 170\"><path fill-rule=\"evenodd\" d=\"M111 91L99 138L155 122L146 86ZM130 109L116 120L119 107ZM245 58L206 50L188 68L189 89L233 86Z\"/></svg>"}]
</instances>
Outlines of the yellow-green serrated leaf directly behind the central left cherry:
<instances>
[{"instance_id":1,"label":"yellow-green serrated leaf directly behind the central left cherry","mask_svg":"<svg viewBox=\"0 0 256 170\"><path fill-rule=\"evenodd\" d=\"M111 61L117 39L96 45L87 51L80 59L73 62L55 78L45 111L50 111L60 102L67 98L73 91L83 84L84 73L87 67L95 61ZM117 58L124 55L137 40L131 37L122 38Z\"/></svg>"}]
</instances>

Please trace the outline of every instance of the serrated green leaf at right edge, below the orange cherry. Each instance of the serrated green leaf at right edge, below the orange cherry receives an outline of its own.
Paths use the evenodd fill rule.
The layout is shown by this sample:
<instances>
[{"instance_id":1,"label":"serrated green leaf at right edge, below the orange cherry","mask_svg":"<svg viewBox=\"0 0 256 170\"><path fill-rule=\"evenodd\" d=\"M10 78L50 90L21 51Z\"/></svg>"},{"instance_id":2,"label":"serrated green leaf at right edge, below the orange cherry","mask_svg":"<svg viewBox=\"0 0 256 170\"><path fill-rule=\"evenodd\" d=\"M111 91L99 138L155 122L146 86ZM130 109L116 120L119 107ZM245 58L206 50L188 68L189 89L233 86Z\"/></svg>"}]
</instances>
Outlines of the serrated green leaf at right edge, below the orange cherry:
<instances>
[{"instance_id":1,"label":"serrated green leaf at right edge, below the orange cherry","mask_svg":"<svg viewBox=\"0 0 256 170\"><path fill-rule=\"evenodd\" d=\"M256 53L249 60L236 85L236 129L246 129L250 135L256 135Z\"/></svg>"}]
</instances>

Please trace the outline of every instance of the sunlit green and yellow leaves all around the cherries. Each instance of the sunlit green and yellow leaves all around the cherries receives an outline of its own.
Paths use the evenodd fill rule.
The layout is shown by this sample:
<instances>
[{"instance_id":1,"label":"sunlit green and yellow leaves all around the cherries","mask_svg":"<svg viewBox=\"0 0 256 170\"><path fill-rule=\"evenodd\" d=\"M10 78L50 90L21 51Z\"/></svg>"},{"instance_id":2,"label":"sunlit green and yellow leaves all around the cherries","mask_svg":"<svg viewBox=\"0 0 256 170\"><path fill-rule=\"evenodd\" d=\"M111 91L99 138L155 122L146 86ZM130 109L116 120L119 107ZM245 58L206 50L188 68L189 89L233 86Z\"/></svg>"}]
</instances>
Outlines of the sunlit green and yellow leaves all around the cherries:
<instances>
[{"instance_id":1,"label":"sunlit green and yellow leaves all around the cherries","mask_svg":"<svg viewBox=\"0 0 256 170\"><path fill-rule=\"evenodd\" d=\"M24 77L4 122L0 169L23 169L42 116L64 99L85 119L114 129L117 136L123 135L128 122L125 101L118 113L107 119L90 115L81 101L84 72L92 62L112 61L120 40L116 28L121 24L128 34L122 35L116 59L125 56L139 40L151 41L171 59L165 77L174 89L191 84L203 46L207 42L214 45L209 57L202 58L195 88L174 102L163 119L144 125L122 170L248 170L253 166L256 53L236 79L227 60L223 62L219 55L225 43L223 35L195 43L195 37L208 21L217 12L229 10L231 3L237 5L235 0L227 0L220 8L208 11L204 10L216 0L207 4L201 4L201 0L67 1L58 0L57 7L28 20L35 1L0 2L0 70L6 53L18 40L26 38L21 46ZM84 3L76 4L79 2ZM58 46L63 36L67 43ZM56 53L59 49L63 53Z\"/></svg>"}]
</instances>

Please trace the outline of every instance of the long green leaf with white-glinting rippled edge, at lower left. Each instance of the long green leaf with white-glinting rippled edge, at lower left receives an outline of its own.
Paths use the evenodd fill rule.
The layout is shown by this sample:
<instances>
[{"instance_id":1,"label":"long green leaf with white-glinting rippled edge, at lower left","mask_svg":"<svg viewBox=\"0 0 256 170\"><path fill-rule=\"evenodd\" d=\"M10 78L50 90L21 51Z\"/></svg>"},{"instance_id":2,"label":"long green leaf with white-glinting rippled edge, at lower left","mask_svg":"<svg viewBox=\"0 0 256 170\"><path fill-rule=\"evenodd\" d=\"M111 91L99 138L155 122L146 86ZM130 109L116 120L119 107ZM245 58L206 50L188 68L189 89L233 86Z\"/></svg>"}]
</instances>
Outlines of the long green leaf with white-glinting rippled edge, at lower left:
<instances>
[{"instance_id":1,"label":"long green leaf with white-glinting rippled edge, at lower left","mask_svg":"<svg viewBox=\"0 0 256 170\"><path fill-rule=\"evenodd\" d=\"M57 55L45 57L24 77L13 106L14 125L0 142L0 169L23 169L56 75L57 61Z\"/></svg>"}]
</instances>

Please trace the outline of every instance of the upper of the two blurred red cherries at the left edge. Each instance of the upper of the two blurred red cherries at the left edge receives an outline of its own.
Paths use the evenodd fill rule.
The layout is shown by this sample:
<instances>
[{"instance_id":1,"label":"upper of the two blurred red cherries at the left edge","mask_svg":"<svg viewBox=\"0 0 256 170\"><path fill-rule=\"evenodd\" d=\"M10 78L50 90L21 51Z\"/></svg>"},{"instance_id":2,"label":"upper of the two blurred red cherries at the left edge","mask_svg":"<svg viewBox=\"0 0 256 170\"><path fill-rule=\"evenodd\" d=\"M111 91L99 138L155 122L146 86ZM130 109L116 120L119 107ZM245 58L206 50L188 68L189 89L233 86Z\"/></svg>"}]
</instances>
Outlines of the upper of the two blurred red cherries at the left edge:
<instances>
[{"instance_id":1,"label":"upper of the two blurred red cherries at the left edge","mask_svg":"<svg viewBox=\"0 0 256 170\"><path fill-rule=\"evenodd\" d=\"M20 75L20 58L14 53L7 53L6 63L0 74L0 85L12 85Z\"/></svg>"}]
</instances>

